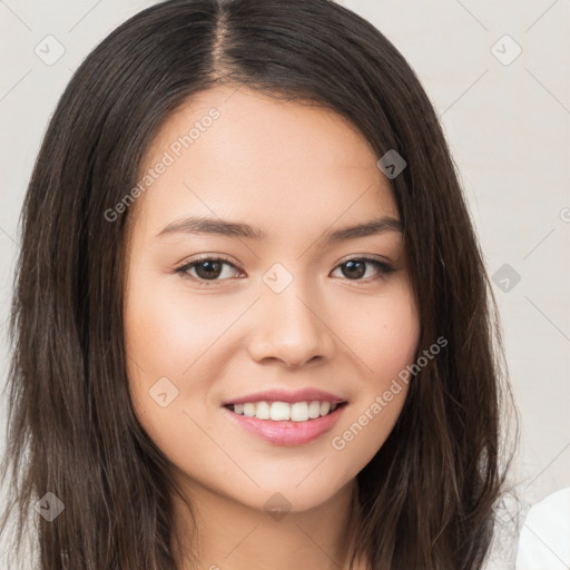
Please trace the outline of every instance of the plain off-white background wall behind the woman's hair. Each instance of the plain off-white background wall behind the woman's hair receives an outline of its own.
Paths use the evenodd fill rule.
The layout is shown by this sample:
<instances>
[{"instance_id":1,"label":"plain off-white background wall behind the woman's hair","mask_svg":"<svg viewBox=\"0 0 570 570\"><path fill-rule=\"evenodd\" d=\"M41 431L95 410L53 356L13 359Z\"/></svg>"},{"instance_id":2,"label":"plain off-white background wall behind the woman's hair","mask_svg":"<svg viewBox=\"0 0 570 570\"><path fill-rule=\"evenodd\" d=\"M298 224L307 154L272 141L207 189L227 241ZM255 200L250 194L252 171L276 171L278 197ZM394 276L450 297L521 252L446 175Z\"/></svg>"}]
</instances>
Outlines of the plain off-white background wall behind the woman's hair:
<instances>
[{"instance_id":1,"label":"plain off-white background wall behind the woman's hair","mask_svg":"<svg viewBox=\"0 0 570 570\"><path fill-rule=\"evenodd\" d=\"M18 217L47 121L87 53L153 3L0 0L0 387ZM342 3L416 71L461 173L489 273L510 266L494 292L522 421L517 489L531 504L570 485L570 2ZM35 52L51 41L56 53L48 35L65 48L50 66ZM522 52L511 61L517 45ZM0 405L3 416L6 396ZM0 436L3 448L3 421Z\"/></svg>"}]
</instances>

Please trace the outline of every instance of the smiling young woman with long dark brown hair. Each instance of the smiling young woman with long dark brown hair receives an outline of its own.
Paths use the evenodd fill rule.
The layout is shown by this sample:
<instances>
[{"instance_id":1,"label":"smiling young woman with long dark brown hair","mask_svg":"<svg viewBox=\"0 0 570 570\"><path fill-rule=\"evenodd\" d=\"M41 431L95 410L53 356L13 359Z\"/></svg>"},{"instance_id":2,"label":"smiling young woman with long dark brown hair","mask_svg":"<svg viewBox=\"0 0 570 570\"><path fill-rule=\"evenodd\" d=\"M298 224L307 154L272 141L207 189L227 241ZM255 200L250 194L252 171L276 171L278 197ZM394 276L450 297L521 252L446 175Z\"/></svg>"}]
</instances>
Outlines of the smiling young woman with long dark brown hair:
<instances>
[{"instance_id":1,"label":"smiling young woman with long dark brown hair","mask_svg":"<svg viewBox=\"0 0 570 570\"><path fill-rule=\"evenodd\" d=\"M491 308L379 30L328 0L158 3L79 67L28 188L4 522L42 570L480 569Z\"/></svg>"}]
</instances>

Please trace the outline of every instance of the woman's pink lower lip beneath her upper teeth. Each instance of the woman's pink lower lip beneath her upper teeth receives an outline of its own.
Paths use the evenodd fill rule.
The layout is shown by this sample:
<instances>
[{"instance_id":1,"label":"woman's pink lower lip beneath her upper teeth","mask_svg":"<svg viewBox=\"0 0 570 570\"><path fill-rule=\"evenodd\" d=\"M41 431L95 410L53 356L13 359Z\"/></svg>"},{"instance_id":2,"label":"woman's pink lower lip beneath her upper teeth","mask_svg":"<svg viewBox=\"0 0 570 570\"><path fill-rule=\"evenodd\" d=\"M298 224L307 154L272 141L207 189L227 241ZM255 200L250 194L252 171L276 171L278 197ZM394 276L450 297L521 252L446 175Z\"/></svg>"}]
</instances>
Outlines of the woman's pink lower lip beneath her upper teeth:
<instances>
[{"instance_id":1,"label":"woman's pink lower lip beneath her upper teeth","mask_svg":"<svg viewBox=\"0 0 570 570\"><path fill-rule=\"evenodd\" d=\"M276 445L302 445L316 440L331 430L341 419L346 404L343 404L327 415L316 420L307 420L306 422L274 422L272 420L259 420L258 417L236 414L227 407L223 407L223 410L229 414L229 419L233 422L271 443Z\"/></svg>"}]
</instances>

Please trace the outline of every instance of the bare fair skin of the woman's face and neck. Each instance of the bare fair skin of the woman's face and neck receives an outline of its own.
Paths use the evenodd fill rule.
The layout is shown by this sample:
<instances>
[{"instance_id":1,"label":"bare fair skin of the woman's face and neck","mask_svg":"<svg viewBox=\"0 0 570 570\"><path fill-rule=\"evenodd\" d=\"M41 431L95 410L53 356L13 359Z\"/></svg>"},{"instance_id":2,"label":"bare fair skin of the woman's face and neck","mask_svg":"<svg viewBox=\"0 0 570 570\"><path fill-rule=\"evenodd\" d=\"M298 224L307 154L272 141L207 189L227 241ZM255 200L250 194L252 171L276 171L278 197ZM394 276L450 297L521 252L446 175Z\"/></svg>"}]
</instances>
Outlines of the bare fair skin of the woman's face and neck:
<instances>
[{"instance_id":1,"label":"bare fair skin of the woman's face and neck","mask_svg":"<svg viewBox=\"0 0 570 570\"><path fill-rule=\"evenodd\" d=\"M219 118L176 157L173 142L213 107ZM245 87L216 87L171 115L141 173L165 151L176 159L130 206L125 327L137 416L196 514L197 535L175 500L177 532L205 569L347 568L355 478L390 434L407 387L342 450L333 438L413 363L420 333L401 232L326 240L346 226L399 219L379 157L338 115ZM158 235L188 216L265 236ZM176 273L199 254L232 265L216 273L203 261ZM370 262L350 271L347 261L362 256L395 271ZM276 293L267 275L291 283ZM178 393L161 406L149 390L165 377L163 393ZM250 433L223 406L307 386L347 403L332 429L303 444ZM265 507L272 497L286 500L281 518ZM194 568L177 557L181 570Z\"/></svg>"}]
</instances>

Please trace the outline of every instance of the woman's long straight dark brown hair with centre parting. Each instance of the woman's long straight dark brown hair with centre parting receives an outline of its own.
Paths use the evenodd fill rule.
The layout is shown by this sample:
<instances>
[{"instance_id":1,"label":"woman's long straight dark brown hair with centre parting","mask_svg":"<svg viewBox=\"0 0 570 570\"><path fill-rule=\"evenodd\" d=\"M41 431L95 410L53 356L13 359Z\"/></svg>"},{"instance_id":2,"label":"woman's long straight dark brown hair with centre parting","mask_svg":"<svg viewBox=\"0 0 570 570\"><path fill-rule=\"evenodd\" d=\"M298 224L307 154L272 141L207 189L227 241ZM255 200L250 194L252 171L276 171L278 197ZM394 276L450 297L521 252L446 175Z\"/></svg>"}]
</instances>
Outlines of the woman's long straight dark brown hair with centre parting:
<instances>
[{"instance_id":1,"label":"woman's long straight dark brown hair with centre parting","mask_svg":"<svg viewBox=\"0 0 570 570\"><path fill-rule=\"evenodd\" d=\"M2 480L16 546L42 570L174 568L169 462L139 425L124 347L129 209L141 157L169 114L225 81L308 100L352 121L391 186L420 312L417 373L387 441L357 475L356 553L374 570L475 570L493 533L510 395L492 291L434 109L396 48L331 0L170 0L132 17L75 72L22 208L10 321ZM419 355L421 354L419 348ZM33 505L52 492L49 522ZM51 497L51 495L50 495ZM47 501L48 499L45 499Z\"/></svg>"}]
</instances>

